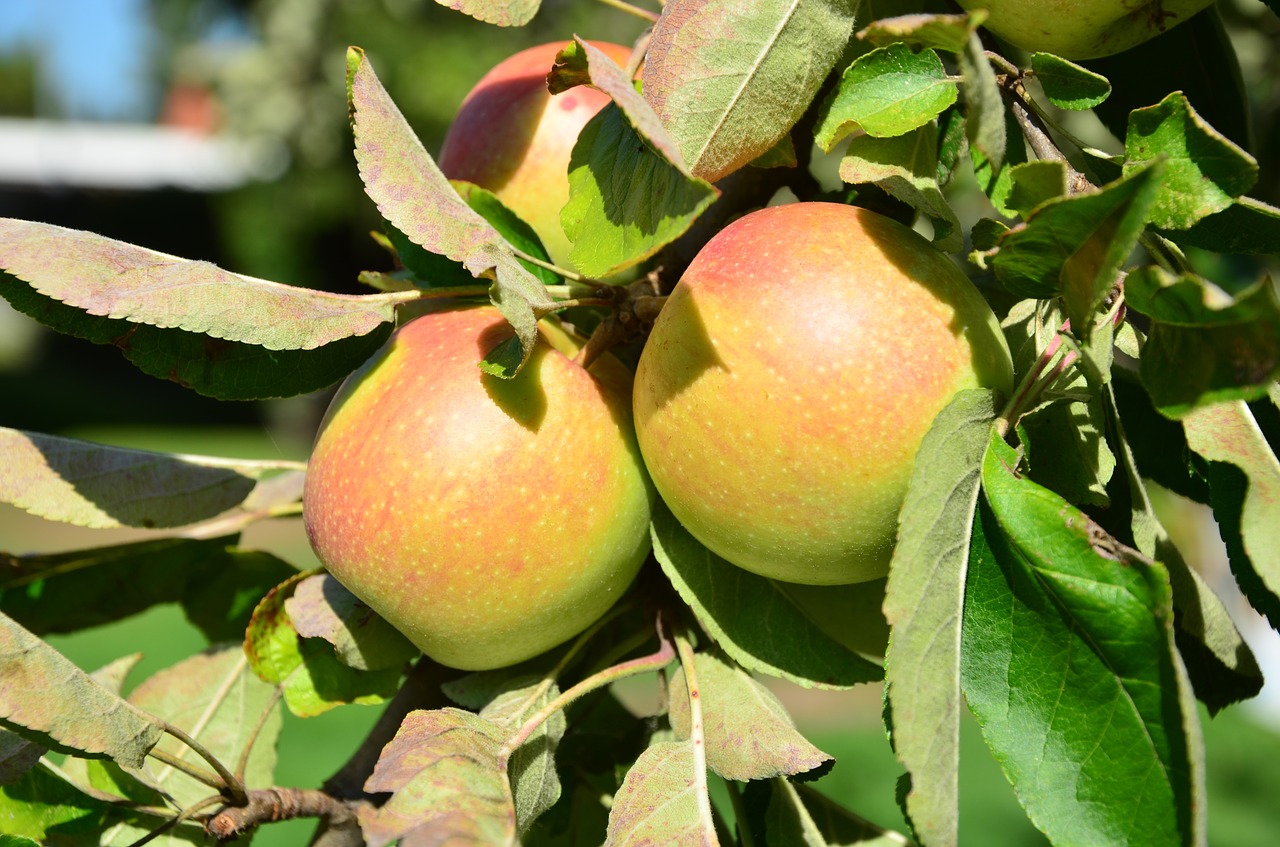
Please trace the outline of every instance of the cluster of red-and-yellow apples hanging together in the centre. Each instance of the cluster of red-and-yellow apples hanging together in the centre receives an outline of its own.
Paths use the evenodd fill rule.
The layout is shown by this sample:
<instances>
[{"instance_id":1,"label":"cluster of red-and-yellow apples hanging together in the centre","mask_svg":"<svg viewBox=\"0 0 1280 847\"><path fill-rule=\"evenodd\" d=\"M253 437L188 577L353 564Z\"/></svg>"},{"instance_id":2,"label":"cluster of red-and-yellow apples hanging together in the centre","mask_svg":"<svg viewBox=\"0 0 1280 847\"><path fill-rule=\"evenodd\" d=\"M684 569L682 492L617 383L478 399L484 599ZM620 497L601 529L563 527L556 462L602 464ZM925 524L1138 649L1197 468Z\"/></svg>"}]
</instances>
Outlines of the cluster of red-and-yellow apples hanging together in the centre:
<instances>
[{"instance_id":1,"label":"cluster of red-and-yellow apples hanging together in the centre","mask_svg":"<svg viewBox=\"0 0 1280 847\"><path fill-rule=\"evenodd\" d=\"M559 47L486 74L439 161L564 265L570 152L607 99L547 92ZM539 331L502 380L479 368L512 334L495 308L404 324L339 389L310 462L320 560L451 667L509 665L599 619L649 553L658 496L815 624L883 651L878 598L920 441L957 392L1012 379L968 278L909 228L838 203L760 209L716 234L634 376L609 354L582 367L554 320ZM846 637L851 617L869 641Z\"/></svg>"}]
</instances>

